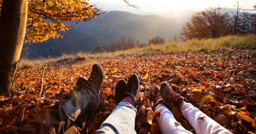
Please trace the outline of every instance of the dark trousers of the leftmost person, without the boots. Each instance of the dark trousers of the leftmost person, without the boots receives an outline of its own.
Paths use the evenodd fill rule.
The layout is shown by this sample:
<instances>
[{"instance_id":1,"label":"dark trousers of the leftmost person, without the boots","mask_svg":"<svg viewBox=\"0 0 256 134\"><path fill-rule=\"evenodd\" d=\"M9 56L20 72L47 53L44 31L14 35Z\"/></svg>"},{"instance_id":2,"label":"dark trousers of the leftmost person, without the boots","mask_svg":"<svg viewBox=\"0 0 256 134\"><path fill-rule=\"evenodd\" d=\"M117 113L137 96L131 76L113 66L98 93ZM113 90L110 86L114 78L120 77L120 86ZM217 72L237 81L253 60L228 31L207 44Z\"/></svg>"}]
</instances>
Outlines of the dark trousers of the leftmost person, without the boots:
<instances>
[{"instance_id":1,"label":"dark trousers of the leftmost person, without the boots","mask_svg":"<svg viewBox=\"0 0 256 134\"><path fill-rule=\"evenodd\" d=\"M90 98L83 88L76 87L38 118L11 133L81 133L89 111Z\"/></svg>"}]
</instances>

